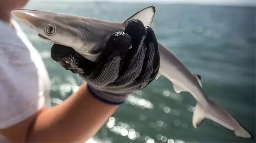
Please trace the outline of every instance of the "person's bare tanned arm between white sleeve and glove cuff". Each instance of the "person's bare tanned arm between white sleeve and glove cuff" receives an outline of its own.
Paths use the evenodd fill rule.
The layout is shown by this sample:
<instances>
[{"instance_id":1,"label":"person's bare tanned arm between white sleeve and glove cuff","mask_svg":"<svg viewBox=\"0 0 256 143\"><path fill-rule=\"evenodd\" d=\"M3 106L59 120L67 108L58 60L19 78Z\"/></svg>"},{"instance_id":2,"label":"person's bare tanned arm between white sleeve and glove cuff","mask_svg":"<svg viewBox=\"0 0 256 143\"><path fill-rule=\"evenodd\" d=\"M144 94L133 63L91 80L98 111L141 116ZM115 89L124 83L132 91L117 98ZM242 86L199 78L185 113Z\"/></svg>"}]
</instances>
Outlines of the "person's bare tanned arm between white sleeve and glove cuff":
<instances>
[{"instance_id":1,"label":"person's bare tanned arm between white sleeve and glove cuff","mask_svg":"<svg viewBox=\"0 0 256 143\"><path fill-rule=\"evenodd\" d=\"M0 132L11 143L84 143L94 136L117 107L95 99L84 83L62 104L44 108L26 121Z\"/></svg>"}]
</instances>

